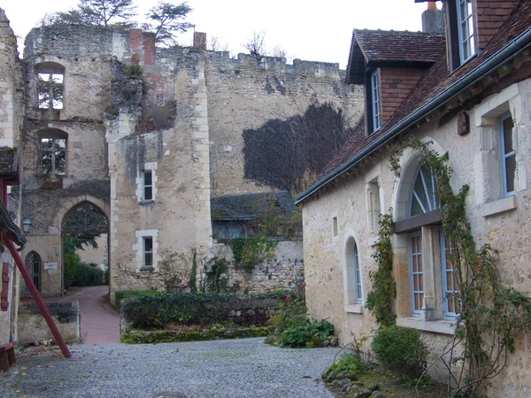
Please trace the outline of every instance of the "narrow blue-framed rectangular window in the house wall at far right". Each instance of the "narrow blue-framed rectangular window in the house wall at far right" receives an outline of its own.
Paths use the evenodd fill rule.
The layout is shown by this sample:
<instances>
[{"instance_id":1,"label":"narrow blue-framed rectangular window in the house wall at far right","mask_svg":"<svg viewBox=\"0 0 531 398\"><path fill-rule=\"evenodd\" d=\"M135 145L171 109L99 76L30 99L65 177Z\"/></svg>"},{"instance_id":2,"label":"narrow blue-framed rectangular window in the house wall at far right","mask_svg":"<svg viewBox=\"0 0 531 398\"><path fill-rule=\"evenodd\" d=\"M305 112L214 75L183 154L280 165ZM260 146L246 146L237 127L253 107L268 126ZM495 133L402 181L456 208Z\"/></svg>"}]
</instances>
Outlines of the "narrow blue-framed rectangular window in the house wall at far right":
<instances>
[{"instance_id":1,"label":"narrow blue-framed rectangular window in the house wall at far right","mask_svg":"<svg viewBox=\"0 0 531 398\"><path fill-rule=\"evenodd\" d=\"M502 165L502 186L504 196L514 195L514 176L516 173L516 152L512 142L512 116L505 113L500 118L500 163Z\"/></svg>"}]
</instances>

